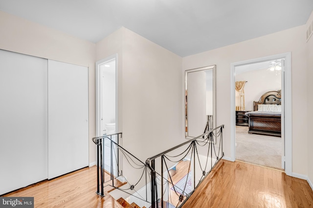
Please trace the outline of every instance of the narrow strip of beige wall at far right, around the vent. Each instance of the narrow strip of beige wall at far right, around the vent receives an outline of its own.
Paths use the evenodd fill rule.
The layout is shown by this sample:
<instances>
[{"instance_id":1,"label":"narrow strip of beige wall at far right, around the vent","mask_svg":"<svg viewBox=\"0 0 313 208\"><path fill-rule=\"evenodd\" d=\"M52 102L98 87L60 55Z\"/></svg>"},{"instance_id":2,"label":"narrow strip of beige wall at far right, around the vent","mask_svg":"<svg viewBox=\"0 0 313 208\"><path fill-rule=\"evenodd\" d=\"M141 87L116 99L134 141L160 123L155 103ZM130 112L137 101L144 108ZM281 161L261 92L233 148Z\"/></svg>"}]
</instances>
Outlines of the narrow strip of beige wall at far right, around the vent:
<instances>
[{"instance_id":1,"label":"narrow strip of beige wall at far right, around the vent","mask_svg":"<svg viewBox=\"0 0 313 208\"><path fill-rule=\"evenodd\" d=\"M313 13L311 14L311 17L308 20L308 23L306 24L307 29L311 22L313 21ZM309 39L307 43L307 97L308 97L308 112L307 112L307 134L308 134L308 145L307 145L307 151L308 151L308 177L311 181L311 187L313 189L313 138L312 138L312 126L313 126L313 36ZM302 122L305 123L305 122Z\"/></svg>"}]
</instances>

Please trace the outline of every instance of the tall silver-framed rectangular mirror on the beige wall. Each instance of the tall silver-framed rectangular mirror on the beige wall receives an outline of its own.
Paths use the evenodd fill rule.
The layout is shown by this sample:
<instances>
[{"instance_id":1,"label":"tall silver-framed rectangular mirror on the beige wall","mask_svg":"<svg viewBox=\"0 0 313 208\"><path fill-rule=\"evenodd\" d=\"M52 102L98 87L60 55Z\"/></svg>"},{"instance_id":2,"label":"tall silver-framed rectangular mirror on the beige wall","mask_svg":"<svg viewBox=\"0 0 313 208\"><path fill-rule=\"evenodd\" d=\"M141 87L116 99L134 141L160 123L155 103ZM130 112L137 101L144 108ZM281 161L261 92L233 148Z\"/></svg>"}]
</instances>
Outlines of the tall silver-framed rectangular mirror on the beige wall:
<instances>
[{"instance_id":1,"label":"tall silver-framed rectangular mirror on the beige wall","mask_svg":"<svg viewBox=\"0 0 313 208\"><path fill-rule=\"evenodd\" d=\"M216 127L216 66L185 71L185 136L197 137Z\"/></svg>"}]
</instances>

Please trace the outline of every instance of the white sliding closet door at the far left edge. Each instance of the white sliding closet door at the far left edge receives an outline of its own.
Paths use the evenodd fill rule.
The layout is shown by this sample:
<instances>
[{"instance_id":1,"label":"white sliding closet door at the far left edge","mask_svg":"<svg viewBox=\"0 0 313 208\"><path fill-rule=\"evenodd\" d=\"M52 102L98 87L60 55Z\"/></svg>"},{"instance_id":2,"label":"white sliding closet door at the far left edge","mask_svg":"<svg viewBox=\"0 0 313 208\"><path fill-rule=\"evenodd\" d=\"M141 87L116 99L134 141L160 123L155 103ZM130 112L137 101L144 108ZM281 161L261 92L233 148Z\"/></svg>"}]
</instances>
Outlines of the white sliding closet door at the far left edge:
<instances>
[{"instance_id":1,"label":"white sliding closet door at the far left edge","mask_svg":"<svg viewBox=\"0 0 313 208\"><path fill-rule=\"evenodd\" d=\"M0 194L47 178L47 60L0 50Z\"/></svg>"}]
</instances>

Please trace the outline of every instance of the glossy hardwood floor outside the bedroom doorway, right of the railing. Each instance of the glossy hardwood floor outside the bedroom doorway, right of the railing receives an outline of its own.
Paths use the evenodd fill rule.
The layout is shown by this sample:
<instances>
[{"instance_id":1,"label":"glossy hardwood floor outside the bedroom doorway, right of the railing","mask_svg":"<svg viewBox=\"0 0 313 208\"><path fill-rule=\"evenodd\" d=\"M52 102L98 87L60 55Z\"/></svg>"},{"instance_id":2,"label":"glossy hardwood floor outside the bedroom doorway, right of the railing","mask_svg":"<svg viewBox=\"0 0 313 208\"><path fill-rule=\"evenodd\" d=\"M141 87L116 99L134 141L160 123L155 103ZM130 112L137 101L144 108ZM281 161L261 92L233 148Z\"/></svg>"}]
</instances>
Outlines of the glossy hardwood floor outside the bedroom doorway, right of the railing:
<instances>
[{"instance_id":1,"label":"glossy hardwood floor outside the bedroom doorway, right of the railing","mask_svg":"<svg viewBox=\"0 0 313 208\"><path fill-rule=\"evenodd\" d=\"M221 160L182 208L313 208L308 182L239 161Z\"/></svg>"}]
</instances>

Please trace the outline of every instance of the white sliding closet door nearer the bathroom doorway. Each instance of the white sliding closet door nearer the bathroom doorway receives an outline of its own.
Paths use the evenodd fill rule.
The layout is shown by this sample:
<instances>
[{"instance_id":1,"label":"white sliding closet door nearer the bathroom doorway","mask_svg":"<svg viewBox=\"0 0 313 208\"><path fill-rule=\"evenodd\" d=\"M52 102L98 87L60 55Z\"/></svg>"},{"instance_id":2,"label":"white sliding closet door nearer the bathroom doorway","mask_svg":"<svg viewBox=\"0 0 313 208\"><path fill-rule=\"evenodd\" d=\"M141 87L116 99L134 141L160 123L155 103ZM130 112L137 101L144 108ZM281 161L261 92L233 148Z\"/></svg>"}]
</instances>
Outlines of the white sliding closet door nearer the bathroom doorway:
<instances>
[{"instance_id":1,"label":"white sliding closet door nearer the bathroom doorway","mask_svg":"<svg viewBox=\"0 0 313 208\"><path fill-rule=\"evenodd\" d=\"M48 179L89 164L88 68L48 60Z\"/></svg>"}]
</instances>

